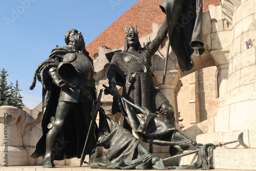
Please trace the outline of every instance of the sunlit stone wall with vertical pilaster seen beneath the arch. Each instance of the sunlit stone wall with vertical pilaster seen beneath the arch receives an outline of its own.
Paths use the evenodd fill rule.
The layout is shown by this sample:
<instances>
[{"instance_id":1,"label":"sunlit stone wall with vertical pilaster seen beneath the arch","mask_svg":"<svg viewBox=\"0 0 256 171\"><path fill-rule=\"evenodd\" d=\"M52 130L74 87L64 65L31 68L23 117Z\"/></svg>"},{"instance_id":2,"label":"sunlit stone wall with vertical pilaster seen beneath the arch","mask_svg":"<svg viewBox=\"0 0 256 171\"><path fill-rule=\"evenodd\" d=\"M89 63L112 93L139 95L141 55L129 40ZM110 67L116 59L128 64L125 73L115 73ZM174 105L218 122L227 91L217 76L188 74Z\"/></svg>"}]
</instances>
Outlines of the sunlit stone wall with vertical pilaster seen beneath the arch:
<instances>
[{"instance_id":1,"label":"sunlit stone wall with vertical pilaster seen beneath the arch","mask_svg":"<svg viewBox=\"0 0 256 171\"><path fill-rule=\"evenodd\" d=\"M201 69L181 78L183 86L178 95L178 110L182 123L188 129L214 117L219 107L217 68Z\"/></svg>"}]
</instances>

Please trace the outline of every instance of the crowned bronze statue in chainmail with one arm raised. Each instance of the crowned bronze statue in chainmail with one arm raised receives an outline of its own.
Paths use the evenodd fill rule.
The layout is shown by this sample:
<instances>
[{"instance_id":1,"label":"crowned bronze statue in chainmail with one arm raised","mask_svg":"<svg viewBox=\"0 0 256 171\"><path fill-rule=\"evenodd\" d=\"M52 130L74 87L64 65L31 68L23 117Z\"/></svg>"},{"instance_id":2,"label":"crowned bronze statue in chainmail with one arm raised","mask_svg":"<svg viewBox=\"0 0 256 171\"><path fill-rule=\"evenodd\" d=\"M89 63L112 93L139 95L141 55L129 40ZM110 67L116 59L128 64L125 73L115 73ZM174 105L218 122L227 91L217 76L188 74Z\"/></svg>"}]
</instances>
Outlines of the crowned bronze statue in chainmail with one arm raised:
<instances>
[{"instance_id":1,"label":"crowned bronze statue in chainmail with one arm raised","mask_svg":"<svg viewBox=\"0 0 256 171\"><path fill-rule=\"evenodd\" d=\"M151 112L159 111L163 120L175 127L174 108L155 88L150 72L151 57L167 35L166 20L154 40L144 48L140 45L136 27L130 26L129 29L125 27L125 32L124 49L114 54L108 71L111 91L117 92L116 84L122 86L122 96L127 100ZM137 113L140 112L137 111Z\"/></svg>"}]
</instances>

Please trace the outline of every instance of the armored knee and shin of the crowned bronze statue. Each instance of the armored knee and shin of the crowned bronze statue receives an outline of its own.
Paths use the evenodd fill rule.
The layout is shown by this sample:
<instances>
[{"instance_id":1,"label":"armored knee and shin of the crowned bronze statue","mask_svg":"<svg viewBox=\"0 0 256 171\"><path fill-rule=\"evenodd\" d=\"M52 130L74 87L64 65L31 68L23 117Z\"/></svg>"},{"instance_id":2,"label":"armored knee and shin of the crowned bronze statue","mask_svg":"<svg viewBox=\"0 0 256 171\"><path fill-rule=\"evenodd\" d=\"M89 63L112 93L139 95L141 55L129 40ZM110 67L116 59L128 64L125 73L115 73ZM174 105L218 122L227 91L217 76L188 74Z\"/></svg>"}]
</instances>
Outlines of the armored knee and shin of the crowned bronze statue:
<instances>
[{"instance_id":1,"label":"armored knee and shin of the crowned bronze statue","mask_svg":"<svg viewBox=\"0 0 256 171\"><path fill-rule=\"evenodd\" d=\"M164 103L159 112L167 124L175 127L174 108L170 103Z\"/></svg>"}]
</instances>

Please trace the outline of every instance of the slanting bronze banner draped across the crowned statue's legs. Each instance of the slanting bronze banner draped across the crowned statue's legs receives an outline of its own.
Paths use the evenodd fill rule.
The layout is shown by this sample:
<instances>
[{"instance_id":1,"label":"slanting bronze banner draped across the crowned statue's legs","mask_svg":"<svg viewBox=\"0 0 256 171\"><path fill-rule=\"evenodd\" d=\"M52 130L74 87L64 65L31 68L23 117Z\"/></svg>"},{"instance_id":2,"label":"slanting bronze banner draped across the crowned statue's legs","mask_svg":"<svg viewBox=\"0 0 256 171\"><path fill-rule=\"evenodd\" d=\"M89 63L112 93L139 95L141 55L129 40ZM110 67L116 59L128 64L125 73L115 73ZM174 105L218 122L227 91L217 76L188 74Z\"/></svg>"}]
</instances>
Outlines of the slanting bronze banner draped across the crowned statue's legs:
<instances>
[{"instance_id":1,"label":"slanting bronze banner draped across the crowned statue's legs","mask_svg":"<svg viewBox=\"0 0 256 171\"><path fill-rule=\"evenodd\" d=\"M150 110L131 103L121 95L118 95L117 101L124 119L143 142L165 146L179 146L193 142ZM144 117L138 116L134 108L139 110Z\"/></svg>"}]
</instances>

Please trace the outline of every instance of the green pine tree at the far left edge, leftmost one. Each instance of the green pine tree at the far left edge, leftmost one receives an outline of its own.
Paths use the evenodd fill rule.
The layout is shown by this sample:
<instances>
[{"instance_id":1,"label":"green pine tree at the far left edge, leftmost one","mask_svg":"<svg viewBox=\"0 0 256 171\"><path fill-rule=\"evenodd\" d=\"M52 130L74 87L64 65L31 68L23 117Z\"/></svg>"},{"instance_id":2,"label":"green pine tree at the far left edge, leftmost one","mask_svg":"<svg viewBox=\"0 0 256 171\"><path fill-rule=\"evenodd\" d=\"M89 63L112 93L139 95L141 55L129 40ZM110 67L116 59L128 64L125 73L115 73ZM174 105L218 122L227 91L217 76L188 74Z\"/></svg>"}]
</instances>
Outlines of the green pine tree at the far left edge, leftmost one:
<instances>
[{"instance_id":1,"label":"green pine tree at the far left edge, leftmost one","mask_svg":"<svg viewBox=\"0 0 256 171\"><path fill-rule=\"evenodd\" d=\"M7 71L3 68L0 74L0 106L10 105L10 89L11 86L8 86L6 77L8 76Z\"/></svg>"}]
</instances>

